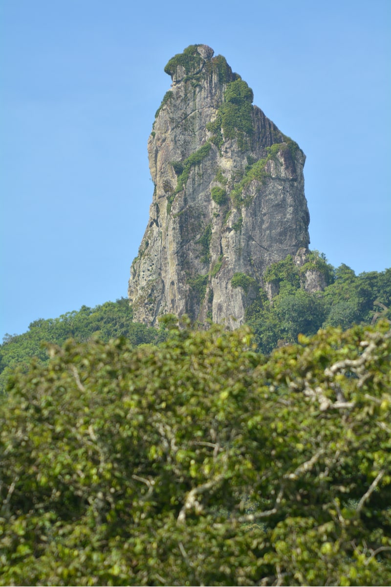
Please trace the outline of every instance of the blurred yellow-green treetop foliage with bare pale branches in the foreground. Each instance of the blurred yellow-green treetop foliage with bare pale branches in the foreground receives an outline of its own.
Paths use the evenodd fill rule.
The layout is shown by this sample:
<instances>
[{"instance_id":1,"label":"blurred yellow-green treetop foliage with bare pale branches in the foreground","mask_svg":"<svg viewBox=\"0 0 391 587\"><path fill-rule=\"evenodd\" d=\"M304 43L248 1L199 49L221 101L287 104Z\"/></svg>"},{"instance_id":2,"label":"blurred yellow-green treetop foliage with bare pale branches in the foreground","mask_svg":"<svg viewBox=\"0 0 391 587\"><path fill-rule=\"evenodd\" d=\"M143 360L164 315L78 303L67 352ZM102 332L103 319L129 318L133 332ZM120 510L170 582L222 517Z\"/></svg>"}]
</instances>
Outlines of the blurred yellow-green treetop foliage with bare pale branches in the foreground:
<instances>
[{"instance_id":1,"label":"blurred yellow-green treetop foliage with bare pale branches in the foreground","mask_svg":"<svg viewBox=\"0 0 391 587\"><path fill-rule=\"evenodd\" d=\"M0 413L1 585L387 585L390 330L50 347Z\"/></svg>"}]
</instances>

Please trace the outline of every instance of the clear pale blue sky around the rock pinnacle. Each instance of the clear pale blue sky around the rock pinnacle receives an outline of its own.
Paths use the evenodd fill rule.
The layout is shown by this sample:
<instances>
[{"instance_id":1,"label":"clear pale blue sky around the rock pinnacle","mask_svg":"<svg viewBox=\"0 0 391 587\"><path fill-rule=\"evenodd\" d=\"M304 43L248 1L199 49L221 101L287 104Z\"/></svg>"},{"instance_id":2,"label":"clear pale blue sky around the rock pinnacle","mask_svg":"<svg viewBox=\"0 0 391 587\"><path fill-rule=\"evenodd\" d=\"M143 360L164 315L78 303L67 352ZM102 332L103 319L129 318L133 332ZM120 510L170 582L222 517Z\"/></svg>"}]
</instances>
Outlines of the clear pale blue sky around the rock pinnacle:
<instances>
[{"instance_id":1,"label":"clear pale blue sky around the rock pinnacle","mask_svg":"<svg viewBox=\"0 0 391 587\"><path fill-rule=\"evenodd\" d=\"M312 249L391 266L390 0L0 0L1 322L127 295L147 140L193 43L227 59L307 155Z\"/></svg>"}]
</instances>

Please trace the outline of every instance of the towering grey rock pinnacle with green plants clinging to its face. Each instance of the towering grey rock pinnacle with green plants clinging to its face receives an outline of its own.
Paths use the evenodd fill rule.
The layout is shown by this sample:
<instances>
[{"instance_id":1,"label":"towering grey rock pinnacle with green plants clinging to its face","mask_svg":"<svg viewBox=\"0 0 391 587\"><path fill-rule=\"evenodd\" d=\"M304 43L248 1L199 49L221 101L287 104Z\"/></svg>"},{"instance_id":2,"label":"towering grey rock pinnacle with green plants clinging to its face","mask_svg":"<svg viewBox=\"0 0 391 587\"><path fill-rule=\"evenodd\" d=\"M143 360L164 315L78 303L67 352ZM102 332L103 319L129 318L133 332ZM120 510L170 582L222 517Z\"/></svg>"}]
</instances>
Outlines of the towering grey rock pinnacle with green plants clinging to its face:
<instances>
[{"instance_id":1,"label":"towering grey rock pinnacle with green plants clinging to its face","mask_svg":"<svg viewBox=\"0 0 391 587\"><path fill-rule=\"evenodd\" d=\"M213 49L192 45L165 72L172 86L148 140L155 190L129 281L134 319L187 313L234 328L267 266L308 247L305 156Z\"/></svg>"}]
</instances>

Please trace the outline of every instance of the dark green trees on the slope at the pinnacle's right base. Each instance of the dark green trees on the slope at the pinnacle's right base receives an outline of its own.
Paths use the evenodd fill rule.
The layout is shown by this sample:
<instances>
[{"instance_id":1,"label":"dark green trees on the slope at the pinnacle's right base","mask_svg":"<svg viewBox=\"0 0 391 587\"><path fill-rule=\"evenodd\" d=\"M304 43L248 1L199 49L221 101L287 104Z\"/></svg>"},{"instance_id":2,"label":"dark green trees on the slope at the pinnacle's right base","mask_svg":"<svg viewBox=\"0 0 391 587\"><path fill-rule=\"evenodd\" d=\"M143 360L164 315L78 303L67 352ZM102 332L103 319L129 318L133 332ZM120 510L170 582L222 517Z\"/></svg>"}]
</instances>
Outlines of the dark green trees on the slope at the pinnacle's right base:
<instances>
[{"instance_id":1,"label":"dark green trees on the slope at the pinnacle's right base","mask_svg":"<svg viewBox=\"0 0 391 587\"><path fill-rule=\"evenodd\" d=\"M324 291L305 291L307 271L322 276ZM271 265L264 280L273 286L273 300L263 297L256 309L250 306L247 310L247 322L264 353L296 342L300 333L314 335L319 328L346 329L380 317L391 320L391 269L356 276L348 266L335 269L324 255L312 251L302 266L290 255Z\"/></svg>"}]
</instances>

